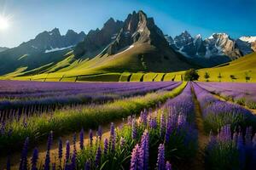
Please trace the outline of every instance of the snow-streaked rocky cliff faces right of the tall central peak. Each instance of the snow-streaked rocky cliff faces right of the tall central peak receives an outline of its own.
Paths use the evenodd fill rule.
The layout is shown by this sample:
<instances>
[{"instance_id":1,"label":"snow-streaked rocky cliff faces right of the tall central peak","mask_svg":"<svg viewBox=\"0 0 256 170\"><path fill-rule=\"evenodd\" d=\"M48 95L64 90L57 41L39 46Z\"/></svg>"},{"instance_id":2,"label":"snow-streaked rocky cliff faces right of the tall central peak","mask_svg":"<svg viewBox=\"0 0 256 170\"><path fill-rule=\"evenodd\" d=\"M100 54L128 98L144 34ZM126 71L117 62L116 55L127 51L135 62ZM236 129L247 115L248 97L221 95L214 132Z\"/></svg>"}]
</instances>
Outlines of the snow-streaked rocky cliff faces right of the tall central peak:
<instances>
[{"instance_id":1,"label":"snow-streaked rocky cliff faces right of the tall central peak","mask_svg":"<svg viewBox=\"0 0 256 170\"><path fill-rule=\"evenodd\" d=\"M188 31L174 37L166 37L170 46L189 58L212 58L228 56L237 59L252 52L251 43L248 45L241 40L234 40L225 33L213 33L211 37L202 40L201 35L191 37Z\"/></svg>"}]
</instances>

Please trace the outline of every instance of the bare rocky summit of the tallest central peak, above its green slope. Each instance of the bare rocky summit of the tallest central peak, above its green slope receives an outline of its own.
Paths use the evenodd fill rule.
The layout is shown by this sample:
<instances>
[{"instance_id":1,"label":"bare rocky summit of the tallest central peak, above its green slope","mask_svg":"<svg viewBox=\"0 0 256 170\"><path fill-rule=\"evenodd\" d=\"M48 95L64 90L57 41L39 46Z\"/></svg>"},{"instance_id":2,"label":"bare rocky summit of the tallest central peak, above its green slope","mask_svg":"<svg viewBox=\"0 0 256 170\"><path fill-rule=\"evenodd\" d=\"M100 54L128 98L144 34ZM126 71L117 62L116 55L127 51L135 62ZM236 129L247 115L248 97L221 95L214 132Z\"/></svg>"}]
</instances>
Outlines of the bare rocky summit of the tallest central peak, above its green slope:
<instances>
[{"instance_id":1,"label":"bare rocky summit of the tallest central peak, above its green slope","mask_svg":"<svg viewBox=\"0 0 256 170\"><path fill-rule=\"evenodd\" d=\"M108 47L108 54L116 54L136 43L148 43L155 47L167 47L168 42L160 29L155 26L154 19L148 18L143 11L129 14L118 36Z\"/></svg>"}]
</instances>

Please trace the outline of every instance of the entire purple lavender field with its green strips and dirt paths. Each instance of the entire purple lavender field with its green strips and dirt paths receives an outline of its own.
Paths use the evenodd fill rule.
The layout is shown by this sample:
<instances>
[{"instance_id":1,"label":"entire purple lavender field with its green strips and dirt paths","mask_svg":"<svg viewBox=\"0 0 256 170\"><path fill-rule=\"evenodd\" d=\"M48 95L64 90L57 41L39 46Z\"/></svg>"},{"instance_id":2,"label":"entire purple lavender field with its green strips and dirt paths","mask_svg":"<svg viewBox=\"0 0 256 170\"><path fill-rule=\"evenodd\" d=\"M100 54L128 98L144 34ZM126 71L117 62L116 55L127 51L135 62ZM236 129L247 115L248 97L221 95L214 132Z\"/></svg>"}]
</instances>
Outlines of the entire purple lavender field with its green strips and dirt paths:
<instances>
[{"instance_id":1,"label":"entire purple lavender field with its green strips and dirt paths","mask_svg":"<svg viewBox=\"0 0 256 170\"><path fill-rule=\"evenodd\" d=\"M239 83L1 81L0 168L254 169L256 116L236 101L254 92Z\"/></svg>"}]
</instances>

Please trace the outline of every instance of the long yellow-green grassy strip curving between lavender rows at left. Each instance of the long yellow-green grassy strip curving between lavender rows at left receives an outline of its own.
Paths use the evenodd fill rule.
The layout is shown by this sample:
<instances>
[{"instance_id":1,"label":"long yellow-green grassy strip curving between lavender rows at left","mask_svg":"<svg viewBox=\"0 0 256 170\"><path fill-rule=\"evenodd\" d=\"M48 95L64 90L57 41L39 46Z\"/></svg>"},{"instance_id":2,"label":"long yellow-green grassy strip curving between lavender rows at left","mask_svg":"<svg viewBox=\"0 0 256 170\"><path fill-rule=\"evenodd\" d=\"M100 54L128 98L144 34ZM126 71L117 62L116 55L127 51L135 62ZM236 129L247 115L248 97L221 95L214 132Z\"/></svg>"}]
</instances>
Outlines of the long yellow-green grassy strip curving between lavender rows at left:
<instances>
[{"instance_id":1,"label":"long yellow-green grassy strip curving between lavender rows at left","mask_svg":"<svg viewBox=\"0 0 256 170\"><path fill-rule=\"evenodd\" d=\"M51 116L49 114L32 116L27 119L26 127L24 127L22 121L11 122L6 125L6 132L9 132L11 128L12 133L10 135L4 133L0 136L0 149L20 149L26 137L29 137L31 143L36 143L40 139L45 139L51 130L54 131L55 136L58 136L80 130L82 127L88 129L113 122L139 113L144 108L154 107L154 105L164 102L166 99L173 98L180 94L185 87L186 82L183 82L172 91L161 91L144 96L119 99L104 105L86 106L78 110L55 111Z\"/></svg>"}]
</instances>

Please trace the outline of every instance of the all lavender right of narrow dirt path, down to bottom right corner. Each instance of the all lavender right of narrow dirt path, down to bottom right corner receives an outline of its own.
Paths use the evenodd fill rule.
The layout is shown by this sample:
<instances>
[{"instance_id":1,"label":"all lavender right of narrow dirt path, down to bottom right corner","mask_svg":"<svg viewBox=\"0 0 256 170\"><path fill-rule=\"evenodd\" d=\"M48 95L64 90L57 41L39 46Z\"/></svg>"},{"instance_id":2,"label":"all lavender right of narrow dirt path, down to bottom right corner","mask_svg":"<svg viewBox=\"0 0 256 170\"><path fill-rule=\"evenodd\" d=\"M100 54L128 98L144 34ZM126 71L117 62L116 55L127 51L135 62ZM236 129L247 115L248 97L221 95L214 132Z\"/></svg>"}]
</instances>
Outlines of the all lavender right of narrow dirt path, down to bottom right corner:
<instances>
[{"instance_id":1,"label":"all lavender right of narrow dirt path, down to bottom right corner","mask_svg":"<svg viewBox=\"0 0 256 170\"><path fill-rule=\"evenodd\" d=\"M253 169L256 166L256 117L240 105L214 98L193 83L204 128L210 133L207 169Z\"/></svg>"}]
</instances>

